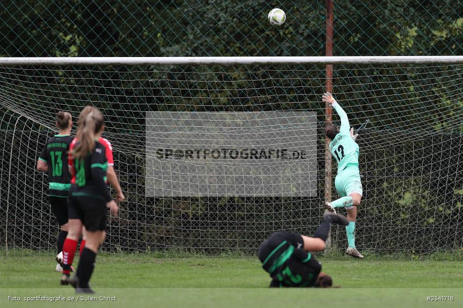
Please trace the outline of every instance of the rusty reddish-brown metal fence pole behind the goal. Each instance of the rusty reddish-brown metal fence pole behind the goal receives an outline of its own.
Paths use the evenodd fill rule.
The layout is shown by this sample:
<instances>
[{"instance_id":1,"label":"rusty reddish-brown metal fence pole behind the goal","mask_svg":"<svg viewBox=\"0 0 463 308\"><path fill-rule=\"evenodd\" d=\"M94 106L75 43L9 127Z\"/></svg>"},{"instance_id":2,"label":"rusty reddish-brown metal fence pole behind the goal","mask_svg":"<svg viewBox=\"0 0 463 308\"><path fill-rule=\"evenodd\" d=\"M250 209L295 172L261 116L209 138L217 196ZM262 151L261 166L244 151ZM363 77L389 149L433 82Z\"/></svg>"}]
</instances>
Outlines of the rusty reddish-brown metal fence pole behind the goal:
<instances>
[{"instance_id":1,"label":"rusty reddish-brown metal fence pole behind the goal","mask_svg":"<svg viewBox=\"0 0 463 308\"><path fill-rule=\"evenodd\" d=\"M326 0L326 46L325 55L333 56L333 0ZM326 65L325 90L333 93L333 66ZM325 127L333 120L330 104L325 104ZM325 201L331 202L331 152L330 140L325 138ZM328 237L327 246L331 247L331 235Z\"/></svg>"}]
</instances>

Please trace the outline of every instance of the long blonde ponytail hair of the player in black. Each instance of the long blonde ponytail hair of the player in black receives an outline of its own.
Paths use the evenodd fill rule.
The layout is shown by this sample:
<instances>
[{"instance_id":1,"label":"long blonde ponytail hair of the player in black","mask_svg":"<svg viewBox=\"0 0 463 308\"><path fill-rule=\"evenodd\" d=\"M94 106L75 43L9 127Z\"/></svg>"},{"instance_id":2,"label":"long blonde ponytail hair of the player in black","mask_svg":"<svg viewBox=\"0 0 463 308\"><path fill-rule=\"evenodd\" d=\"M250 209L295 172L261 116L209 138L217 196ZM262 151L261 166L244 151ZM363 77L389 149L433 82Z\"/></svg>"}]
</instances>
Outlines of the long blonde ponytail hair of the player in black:
<instances>
[{"instance_id":1,"label":"long blonde ponytail hair of the player in black","mask_svg":"<svg viewBox=\"0 0 463 308\"><path fill-rule=\"evenodd\" d=\"M85 158L95 147L95 134L104 124L103 114L98 108L86 106L79 115L77 122L77 140L79 141L72 151L72 156Z\"/></svg>"}]
</instances>

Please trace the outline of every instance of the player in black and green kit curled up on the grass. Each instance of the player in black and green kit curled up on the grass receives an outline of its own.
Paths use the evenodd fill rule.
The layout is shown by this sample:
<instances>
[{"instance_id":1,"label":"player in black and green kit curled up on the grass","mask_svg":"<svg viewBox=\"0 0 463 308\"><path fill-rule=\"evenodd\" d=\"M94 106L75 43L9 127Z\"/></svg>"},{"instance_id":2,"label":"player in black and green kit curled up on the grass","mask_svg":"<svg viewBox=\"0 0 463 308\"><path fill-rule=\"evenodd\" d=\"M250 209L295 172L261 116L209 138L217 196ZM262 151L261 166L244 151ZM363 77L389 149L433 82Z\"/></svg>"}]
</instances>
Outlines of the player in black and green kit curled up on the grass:
<instances>
[{"instance_id":1,"label":"player in black and green kit curled up on the grass","mask_svg":"<svg viewBox=\"0 0 463 308\"><path fill-rule=\"evenodd\" d=\"M270 274L270 287L330 287L333 280L320 272L320 264L310 252L321 252L330 231L330 224L347 225L345 216L325 214L313 237L297 233L277 232L259 248L258 257L265 272Z\"/></svg>"}]
</instances>

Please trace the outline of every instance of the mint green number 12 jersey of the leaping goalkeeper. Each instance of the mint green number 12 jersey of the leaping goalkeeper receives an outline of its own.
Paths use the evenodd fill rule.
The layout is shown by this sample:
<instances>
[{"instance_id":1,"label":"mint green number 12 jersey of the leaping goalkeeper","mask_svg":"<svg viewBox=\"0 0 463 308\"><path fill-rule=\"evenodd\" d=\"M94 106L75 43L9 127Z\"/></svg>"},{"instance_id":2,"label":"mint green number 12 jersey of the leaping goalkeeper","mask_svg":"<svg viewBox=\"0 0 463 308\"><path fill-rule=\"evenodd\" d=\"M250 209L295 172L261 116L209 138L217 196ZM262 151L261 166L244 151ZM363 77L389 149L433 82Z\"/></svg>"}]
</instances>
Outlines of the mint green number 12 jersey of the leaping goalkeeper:
<instances>
[{"instance_id":1,"label":"mint green number 12 jersey of the leaping goalkeeper","mask_svg":"<svg viewBox=\"0 0 463 308\"><path fill-rule=\"evenodd\" d=\"M337 161L337 172L341 172L347 164L359 166L359 145L350 136L350 125L347 113L338 103L332 104L341 118L339 133L330 142L330 152Z\"/></svg>"}]
</instances>

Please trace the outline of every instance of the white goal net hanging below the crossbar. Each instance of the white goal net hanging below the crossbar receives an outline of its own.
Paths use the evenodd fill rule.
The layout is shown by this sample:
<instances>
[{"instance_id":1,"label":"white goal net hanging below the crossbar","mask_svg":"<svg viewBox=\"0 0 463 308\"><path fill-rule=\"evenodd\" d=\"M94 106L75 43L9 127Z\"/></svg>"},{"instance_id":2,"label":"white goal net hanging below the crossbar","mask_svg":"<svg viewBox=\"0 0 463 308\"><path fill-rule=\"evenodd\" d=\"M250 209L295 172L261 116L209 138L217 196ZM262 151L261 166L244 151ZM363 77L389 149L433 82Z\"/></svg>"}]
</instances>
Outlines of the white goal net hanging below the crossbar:
<instances>
[{"instance_id":1,"label":"white goal net hanging below the crossbar","mask_svg":"<svg viewBox=\"0 0 463 308\"><path fill-rule=\"evenodd\" d=\"M457 63L334 65L350 124L370 121L357 139L359 251L463 247L462 73ZM311 63L0 65L0 246L54 249L35 165L57 111L76 124L89 104L105 115L126 195L106 251L253 254L277 230L313 235L328 176L326 79ZM333 200L335 175L333 161ZM331 249L346 247L333 227Z\"/></svg>"}]
</instances>

